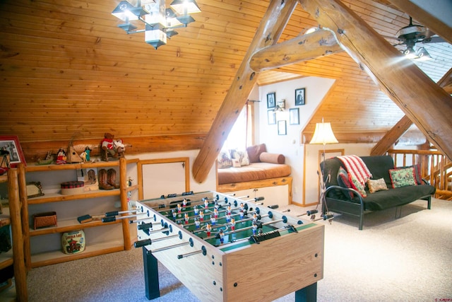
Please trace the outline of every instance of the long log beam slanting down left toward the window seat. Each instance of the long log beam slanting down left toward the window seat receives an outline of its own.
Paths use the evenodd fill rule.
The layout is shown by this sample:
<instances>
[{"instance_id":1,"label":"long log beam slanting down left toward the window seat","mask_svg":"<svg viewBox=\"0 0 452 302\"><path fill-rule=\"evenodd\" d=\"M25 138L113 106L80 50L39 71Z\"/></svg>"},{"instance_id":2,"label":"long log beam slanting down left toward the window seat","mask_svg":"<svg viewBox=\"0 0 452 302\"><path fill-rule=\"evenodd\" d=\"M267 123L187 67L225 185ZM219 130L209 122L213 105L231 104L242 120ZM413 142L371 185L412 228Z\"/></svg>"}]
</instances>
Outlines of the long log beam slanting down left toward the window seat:
<instances>
[{"instance_id":1,"label":"long log beam slanting down left toward the window seat","mask_svg":"<svg viewBox=\"0 0 452 302\"><path fill-rule=\"evenodd\" d=\"M296 5L296 0L270 1L268 10L256 30L256 35L237 70L234 81L232 81L231 88L227 91L225 100L210 127L206 141L196 156L192 169L196 182L203 182L208 177L210 168L215 163L227 135L257 81L258 73L249 66L251 56L254 52L278 41Z\"/></svg>"}]
</instances>

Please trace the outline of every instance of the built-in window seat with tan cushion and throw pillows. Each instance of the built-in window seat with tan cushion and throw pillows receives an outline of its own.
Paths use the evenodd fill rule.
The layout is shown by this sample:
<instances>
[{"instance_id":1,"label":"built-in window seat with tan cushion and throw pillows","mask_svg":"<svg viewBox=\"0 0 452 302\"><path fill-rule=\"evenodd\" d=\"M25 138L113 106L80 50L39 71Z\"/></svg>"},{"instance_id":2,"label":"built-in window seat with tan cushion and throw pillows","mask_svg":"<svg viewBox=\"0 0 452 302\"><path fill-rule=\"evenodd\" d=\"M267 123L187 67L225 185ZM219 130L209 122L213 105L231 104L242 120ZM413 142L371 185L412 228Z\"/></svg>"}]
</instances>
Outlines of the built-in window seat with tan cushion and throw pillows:
<instances>
[{"instance_id":1,"label":"built-in window seat with tan cushion and throw pillows","mask_svg":"<svg viewBox=\"0 0 452 302\"><path fill-rule=\"evenodd\" d=\"M285 164L283 154L268 153L265 144L250 146L246 151L221 152L217 164L218 192L289 185L292 198L292 169Z\"/></svg>"}]
</instances>

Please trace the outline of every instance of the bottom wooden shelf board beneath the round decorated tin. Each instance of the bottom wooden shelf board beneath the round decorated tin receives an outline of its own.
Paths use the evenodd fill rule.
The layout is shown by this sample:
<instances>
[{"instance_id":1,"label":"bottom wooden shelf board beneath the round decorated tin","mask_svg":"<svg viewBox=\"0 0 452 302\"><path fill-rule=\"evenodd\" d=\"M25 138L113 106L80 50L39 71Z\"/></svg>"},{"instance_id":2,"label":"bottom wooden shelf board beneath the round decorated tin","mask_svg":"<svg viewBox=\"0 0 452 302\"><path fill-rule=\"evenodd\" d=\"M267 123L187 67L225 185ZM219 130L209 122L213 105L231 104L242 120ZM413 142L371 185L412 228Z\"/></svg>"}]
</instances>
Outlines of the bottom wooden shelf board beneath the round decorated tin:
<instances>
[{"instance_id":1,"label":"bottom wooden shelf board beneath the round decorated tin","mask_svg":"<svg viewBox=\"0 0 452 302\"><path fill-rule=\"evenodd\" d=\"M111 241L86 245L83 252L73 255L64 254L61 250L42 252L31 256L31 267L34 268L42 267L44 265L54 265L61 262L103 255L109 252L119 252L121 250L124 250L124 243L122 241Z\"/></svg>"}]
</instances>

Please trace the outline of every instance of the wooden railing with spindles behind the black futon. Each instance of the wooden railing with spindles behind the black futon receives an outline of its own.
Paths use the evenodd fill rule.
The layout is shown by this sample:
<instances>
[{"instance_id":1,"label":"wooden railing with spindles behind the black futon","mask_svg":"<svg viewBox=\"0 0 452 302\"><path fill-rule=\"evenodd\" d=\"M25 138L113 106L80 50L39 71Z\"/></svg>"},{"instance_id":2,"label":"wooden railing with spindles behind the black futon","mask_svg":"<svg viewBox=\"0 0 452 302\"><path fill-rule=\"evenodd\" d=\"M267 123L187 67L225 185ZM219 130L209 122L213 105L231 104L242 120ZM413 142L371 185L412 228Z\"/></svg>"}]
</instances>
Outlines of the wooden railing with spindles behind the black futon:
<instances>
[{"instance_id":1,"label":"wooden railing with spindles behind the black futon","mask_svg":"<svg viewBox=\"0 0 452 302\"><path fill-rule=\"evenodd\" d=\"M436 187L435 197L452 200L452 162L436 150L390 149L396 167L419 164L422 178Z\"/></svg>"}]
</instances>

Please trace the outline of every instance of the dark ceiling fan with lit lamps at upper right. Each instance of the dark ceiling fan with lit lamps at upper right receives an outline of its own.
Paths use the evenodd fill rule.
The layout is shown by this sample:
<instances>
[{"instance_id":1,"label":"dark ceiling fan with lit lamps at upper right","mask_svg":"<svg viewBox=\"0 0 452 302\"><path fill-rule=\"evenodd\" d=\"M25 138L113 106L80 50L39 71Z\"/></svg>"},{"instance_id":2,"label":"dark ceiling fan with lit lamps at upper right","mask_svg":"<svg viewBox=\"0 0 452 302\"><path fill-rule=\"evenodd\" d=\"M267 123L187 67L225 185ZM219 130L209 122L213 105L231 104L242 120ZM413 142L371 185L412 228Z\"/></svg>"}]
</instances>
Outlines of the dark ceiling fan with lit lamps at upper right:
<instances>
[{"instance_id":1,"label":"dark ceiling fan with lit lamps at upper right","mask_svg":"<svg viewBox=\"0 0 452 302\"><path fill-rule=\"evenodd\" d=\"M410 24L400 28L398 30L396 37L390 37L387 35L383 35L391 40L398 40L398 43L393 44L393 46L398 45L406 45L405 50L403 50L403 54L405 56L415 59L429 59L431 58L427 50L424 47L419 47L417 51L415 51L416 43L427 44L427 43L437 43L437 42L445 42L442 37L439 37L435 33L433 33L428 28L425 28L423 25L413 24L412 18L410 17Z\"/></svg>"}]
</instances>

